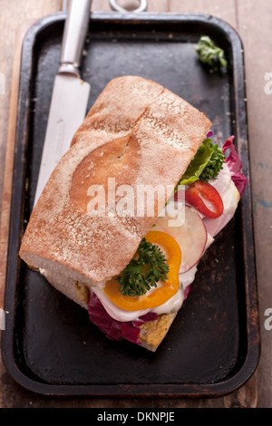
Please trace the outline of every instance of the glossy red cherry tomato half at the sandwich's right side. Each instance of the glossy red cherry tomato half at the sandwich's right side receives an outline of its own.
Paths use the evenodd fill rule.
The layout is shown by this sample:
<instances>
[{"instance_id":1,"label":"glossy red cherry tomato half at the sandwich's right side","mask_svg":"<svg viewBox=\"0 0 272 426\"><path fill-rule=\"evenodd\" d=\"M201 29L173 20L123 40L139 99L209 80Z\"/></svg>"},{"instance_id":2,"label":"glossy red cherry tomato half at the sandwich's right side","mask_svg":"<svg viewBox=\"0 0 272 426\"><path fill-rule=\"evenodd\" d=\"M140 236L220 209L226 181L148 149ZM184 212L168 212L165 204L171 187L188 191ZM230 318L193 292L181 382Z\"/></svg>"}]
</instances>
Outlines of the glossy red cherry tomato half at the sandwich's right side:
<instances>
[{"instance_id":1,"label":"glossy red cherry tomato half at the sandwich's right side","mask_svg":"<svg viewBox=\"0 0 272 426\"><path fill-rule=\"evenodd\" d=\"M219 191L210 183L205 183L202 180L198 180L189 186L189 189L185 191L185 201L197 208L199 213L202 213L206 218L219 218L224 210Z\"/></svg>"}]
</instances>

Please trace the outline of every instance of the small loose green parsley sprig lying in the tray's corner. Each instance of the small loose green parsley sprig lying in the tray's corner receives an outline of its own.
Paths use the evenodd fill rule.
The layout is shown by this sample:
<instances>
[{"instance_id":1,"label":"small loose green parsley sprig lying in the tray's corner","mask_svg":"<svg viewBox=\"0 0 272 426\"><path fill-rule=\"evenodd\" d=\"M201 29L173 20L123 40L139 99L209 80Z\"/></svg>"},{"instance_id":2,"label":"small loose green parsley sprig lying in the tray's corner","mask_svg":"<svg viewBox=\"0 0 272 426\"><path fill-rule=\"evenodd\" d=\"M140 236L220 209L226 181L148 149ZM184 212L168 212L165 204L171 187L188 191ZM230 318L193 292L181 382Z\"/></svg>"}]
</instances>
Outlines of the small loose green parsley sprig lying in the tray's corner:
<instances>
[{"instance_id":1,"label":"small loose green parsley sprig lying in the tray's corner","mask_svg":"<svg viewBox=\"0 0 272 426\"><path fill-rule=\"evenodd\" d=\"M217 47L208 35L202 35L195 47L202 63L208 63L214 69L228 66L223 49Z\"/></svg>"}]
</instances>

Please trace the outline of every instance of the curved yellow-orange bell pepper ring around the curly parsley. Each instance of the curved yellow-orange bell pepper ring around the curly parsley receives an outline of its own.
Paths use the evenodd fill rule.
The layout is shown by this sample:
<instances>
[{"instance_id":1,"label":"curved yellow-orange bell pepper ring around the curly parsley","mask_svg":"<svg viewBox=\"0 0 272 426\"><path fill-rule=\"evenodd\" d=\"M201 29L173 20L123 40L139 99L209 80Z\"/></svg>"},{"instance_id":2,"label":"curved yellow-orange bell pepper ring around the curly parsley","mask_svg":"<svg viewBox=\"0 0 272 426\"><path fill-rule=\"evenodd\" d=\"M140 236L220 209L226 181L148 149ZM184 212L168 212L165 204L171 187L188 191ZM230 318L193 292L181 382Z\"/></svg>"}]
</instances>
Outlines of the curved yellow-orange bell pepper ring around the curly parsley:
<instances>
[{"instance_id":1,"label":"curved yellow-orange bell pepper ring around the curly parsley","mask_svg":"<svg viewBox=\"0 0 272 426\"><path fill-rule=\"evenodd\" d=\"M149 294L139 296L122 295L117 280L108 281L103 289L105 294L115 305L126 311L139 311L160 306L175 295L180 288L181 250L175 238L161 231L150 231L145 238L152 244L157 244L165 249L169 265L168 279L162 282L161 286L152 289Z\"/></svg>"}]
</instances>

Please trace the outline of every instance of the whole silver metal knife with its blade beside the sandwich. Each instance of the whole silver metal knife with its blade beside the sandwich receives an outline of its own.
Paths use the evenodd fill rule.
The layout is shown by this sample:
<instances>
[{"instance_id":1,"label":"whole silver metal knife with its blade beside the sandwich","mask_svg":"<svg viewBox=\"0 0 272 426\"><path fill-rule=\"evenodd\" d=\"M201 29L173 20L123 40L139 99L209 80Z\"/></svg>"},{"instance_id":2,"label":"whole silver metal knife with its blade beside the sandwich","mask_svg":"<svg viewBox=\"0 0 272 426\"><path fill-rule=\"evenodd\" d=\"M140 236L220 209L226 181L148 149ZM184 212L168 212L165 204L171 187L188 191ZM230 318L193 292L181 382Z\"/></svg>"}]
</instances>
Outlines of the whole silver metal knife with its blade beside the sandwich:
<instances>
[{"instance_id":1,"label":"whole silver metal knife with its blade beside the sandwich","mask_svg":"<svg viewBox=\"0 0 272 426\"><path fill-rule=\"evenodd\" d=\"M75 131L82 124L91 90L79 72L88 30L92 0L70 0L64 24L60 66L53 82L44 149L34 205L53 169L69 150Z\"/></svg>"}]
</instances>

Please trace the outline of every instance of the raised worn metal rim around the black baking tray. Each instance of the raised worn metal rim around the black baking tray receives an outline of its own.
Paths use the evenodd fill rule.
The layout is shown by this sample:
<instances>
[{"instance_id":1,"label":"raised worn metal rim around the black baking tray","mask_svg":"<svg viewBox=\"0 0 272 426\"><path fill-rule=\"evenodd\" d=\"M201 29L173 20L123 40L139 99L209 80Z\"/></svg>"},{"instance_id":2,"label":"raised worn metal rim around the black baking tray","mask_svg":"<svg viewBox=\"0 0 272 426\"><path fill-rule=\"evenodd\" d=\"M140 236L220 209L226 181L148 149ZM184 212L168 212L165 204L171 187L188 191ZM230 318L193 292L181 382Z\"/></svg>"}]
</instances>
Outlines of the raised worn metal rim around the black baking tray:
<instances>
[{"instance_id":1,"label":"raised worn metal rim around the black baking tray","mask_svg":"<svg viewBox=\"0 0 272 426\"><path fill-rule=\"evenodd\" d=\"M15 148L15 165L14 165L14 176L13 176L13 188L12 188L12 201L11 201L11 213L10 213L10 224L15 224L15 227L9 229L9 239L8 239L8 251L7 251L7 262L6 262L6 276L5 276L5 302L4 307L5 311L9 314L7 315L6 325L11 328L11 331L5 329L2 332L1 338L1 351L2 359L5 364L5 368L8 373L11 374L15 382L20 384L23 388L28 391L42 394L42 395L51 395L51 396L92 396L92 397L193 397L193 398L212 398L225 396L230 392L238 390L243 384L248 382L248 379L257 369L257 364L260 357L260 332L258 324L258 301L257 301L257 274L256 274L256 264L255 264L255 245L254 245L254 227L253 227L253 218L252 218L252 200L251 200L251 191L250 191L250 173L248 170L248 186L243 195L243 198L246 198L244 202L244 208L241 208L241 215L247 219L247 227L251 230L249 235L249 240L245 238L243 241L243 247L247 247L248 243L252 247L249 252L245 252L245 257L250 260L251 264L246 266L245 276L247 280L246 286L246 311L247 314L250 312L250 324L247 322L247 344L248 351L250 351L251 359L249 359L249 353L245 357L244 363L240 367L237 373L234 373L231 377L228 377L226 380L222 380L216 383L209 384L195 384L195 383L161 383L161 384L53 384L53 383L44 383L40 381L35 381L23 373L18 367L15 359L15 348L14 348L14 324L15 324L15 292L17 281L15 277L18 274L19 266L12 265L11 261L15 259L15 253L18 253L18 247L22 237L22 223L18 215L19 209L23 206L23 188L24 183L21 183L18 188L18 178L24 177L24 157L22 155L22 150L24 143L27 140L27 126L29 120L29 111L28 105L24 105L22 100L21 85L24 80L26 82L26 87L28 92L30 91L31 86L31 73L33 70L33 57L29 57L30 53L27 53L28 60L30 61L29 68L25 67L24 62L24 51L31 46L31 52L34 48L34 41L37 35L44 31L47 26L51 24L56 24L59 21L63 21L66 16L66 12L57 12L53 15L47 15L44 18L40 19L34 23L31 28L27 31L24 36L24 43L22 47L22 63L21 63L21 73L20 73L20 92L18 100L18 110L17 110L17 124L16 124L16 148ZM248 122L247 122L247 105L246 105L246 87L245 87L245 69L244 69L244 56L243 56L243 44L237 33L237 31L228 23L222 19L205 14L172 14L172 13L149 13L145 12L142 14L119 14L119 13L108 13L108 12L92 12L91 21L97 22L121 22L126 24L151 24L153 23L182 23L182 22L199 22L201 24L209 24L213 27L219 29L224 33L232 46L235 44L236 49L233 49L233 80L237 88L238 95L235 97L235 111L244 111L242 116L239 117L239 126L237 129L237 140L239 142L238 149L241 159L243 159L249 166L249 157L248 157ZM24 70L25 73L22 73ZM241 108L242 107L242 108ZM21 124L21 133L24 131L24 140L21 141L21 144L18 143L19 137L19 122L18 116L19 111L24 110L24 122ZM237 125L237 124L236 124ZM20 157L22 156L22 158ZM19 181L21 181L19 179ZM24 181L23 181L24 182ZM20 190L20 197L16 194L15 189ZM17 191L18 193L18 191ZM246 205L251 207L246 209ZM244 224L244 222L242 221ZM245 228L245 224L244 224ZM16 247L11 244L11 241L15 238ZM248 237L247 237L248 238ZM17 260L18 264L18 260ZM248 274L247 274L248 272ZM250 280L248 281L248 276ZM8 286L7 286L8 285ZM247 315L248 317L248 315Z\"/></svg>"}]
</instances>

